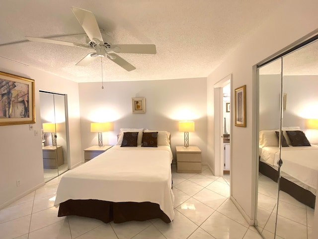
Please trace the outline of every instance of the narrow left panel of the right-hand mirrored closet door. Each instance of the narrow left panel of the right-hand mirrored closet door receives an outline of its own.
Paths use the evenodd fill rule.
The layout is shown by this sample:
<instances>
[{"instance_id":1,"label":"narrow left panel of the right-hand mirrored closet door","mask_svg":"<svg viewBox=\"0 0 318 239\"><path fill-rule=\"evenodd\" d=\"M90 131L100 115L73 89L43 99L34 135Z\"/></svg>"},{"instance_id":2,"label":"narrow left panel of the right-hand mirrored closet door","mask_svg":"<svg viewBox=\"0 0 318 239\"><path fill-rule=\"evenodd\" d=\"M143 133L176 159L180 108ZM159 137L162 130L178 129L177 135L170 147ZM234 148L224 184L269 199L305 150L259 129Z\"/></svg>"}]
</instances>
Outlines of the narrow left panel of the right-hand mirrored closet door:
<instances>
[{"instance_id":1,"label":"narrow left panel of the right-hand mirrored closet door","mask_svg":"<svg viewBox=\"0 0 318 239\"><path fill-rule=\"evenodd\" d=\"M258 69L259 83L259 172L255 226L265 238L274 238L278 200L278 170L275 153L280 152L282 59Z\"/></svg>"}]
</instances>

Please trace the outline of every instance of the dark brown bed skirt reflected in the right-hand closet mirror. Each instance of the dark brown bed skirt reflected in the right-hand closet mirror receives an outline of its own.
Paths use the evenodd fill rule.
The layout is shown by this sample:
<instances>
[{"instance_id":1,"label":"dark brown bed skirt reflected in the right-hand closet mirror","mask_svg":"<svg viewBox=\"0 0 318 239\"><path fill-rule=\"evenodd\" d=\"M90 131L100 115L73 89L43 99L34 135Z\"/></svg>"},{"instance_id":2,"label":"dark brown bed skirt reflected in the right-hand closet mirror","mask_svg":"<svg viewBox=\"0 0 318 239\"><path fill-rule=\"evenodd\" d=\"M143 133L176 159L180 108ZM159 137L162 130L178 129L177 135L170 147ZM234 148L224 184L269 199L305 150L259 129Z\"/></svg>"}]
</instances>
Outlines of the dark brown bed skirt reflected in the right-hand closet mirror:
<instances>
[{"instance_id":1,"label":"dark brown bed skirt reflected in the right-hand closet mirror","mask_svg":"<svg viewBox=\"0 0 318 239\"><path fill-rule=\"evenodd\" d=\"M278 171L261 161L259 161L259 172L275 182L278 181ZM298 186L284 177L280 178L280 190L288 193L299 202L315 208L316 196L311 191Z\"/></svg>"}]
</instances>

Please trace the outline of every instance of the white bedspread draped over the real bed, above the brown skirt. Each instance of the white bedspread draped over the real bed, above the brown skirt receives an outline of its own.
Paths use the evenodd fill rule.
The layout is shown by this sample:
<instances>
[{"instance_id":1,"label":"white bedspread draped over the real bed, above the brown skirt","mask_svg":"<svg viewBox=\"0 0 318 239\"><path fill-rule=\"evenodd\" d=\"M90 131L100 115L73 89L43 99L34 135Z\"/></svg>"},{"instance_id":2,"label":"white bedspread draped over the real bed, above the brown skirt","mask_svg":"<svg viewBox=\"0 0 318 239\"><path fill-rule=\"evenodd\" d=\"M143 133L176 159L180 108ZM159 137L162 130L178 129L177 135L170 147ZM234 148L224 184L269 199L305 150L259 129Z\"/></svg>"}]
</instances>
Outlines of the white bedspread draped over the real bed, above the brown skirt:
<instances>
[{"instance_id":1,"label":"white bedspread draped over the real bed, above the brown skirt","mask_svg":"<svg viewBox=\"0 0 318 239\"><path fill-rule=\"evenodd\" d=\"M110 202L152 202L172 221L172 152L169 146L113 146L65 173L54 205L69 199Z\"/></svg>"}]
</instances>

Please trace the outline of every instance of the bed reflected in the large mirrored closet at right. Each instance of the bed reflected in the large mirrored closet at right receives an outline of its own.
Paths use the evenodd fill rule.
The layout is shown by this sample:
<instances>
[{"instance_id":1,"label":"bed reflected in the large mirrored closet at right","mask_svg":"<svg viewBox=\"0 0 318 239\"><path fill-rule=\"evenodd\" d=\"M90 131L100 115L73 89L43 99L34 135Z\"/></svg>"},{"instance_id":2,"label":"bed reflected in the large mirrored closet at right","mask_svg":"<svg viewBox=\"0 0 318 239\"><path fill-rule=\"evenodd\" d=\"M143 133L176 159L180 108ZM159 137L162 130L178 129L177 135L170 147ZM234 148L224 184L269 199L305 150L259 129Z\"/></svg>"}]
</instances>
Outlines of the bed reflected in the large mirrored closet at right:
<instances>
[{"instance_id":1,"label":"bed reflected in the large mirrored closet at right","mask_svg":"<svg viewBox=\"0 0 318 239\"><path fill-rule=\"evenodd\" d=\"M281 148L281 152L278 147L278 134L274 135L277 130L260 131L259 172L277 182L279 178L277 161L281 158L283 165L281 167L280 189L301 203L315 208L318 181L318 145L293 146L286 131L301 131L298 127L296 128L283 131L283 140L286 142L285 146Z\"/></svg>"}]
</instances>

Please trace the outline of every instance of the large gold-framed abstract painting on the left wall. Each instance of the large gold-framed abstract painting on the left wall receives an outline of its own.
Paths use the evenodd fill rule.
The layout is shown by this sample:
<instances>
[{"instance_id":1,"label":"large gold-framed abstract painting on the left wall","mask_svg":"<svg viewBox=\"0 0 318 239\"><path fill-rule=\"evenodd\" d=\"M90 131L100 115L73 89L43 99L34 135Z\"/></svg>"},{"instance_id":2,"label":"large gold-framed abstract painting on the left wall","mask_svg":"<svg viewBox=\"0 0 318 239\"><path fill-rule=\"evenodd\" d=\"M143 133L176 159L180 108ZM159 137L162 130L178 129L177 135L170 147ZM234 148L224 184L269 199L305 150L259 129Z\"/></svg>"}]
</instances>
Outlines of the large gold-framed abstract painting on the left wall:
<instances>
[{"instance_id":1,"label":"large gold-framed abstract painting on the left wall","mask_svg":"<svg viewBox=\"0 0 318 239\"><path fill-rule=\"evenodd\" d=\"M35 123L34 80L0 72L0 125Z\"/></svg>"}]
</instances>

